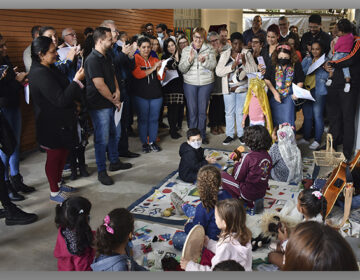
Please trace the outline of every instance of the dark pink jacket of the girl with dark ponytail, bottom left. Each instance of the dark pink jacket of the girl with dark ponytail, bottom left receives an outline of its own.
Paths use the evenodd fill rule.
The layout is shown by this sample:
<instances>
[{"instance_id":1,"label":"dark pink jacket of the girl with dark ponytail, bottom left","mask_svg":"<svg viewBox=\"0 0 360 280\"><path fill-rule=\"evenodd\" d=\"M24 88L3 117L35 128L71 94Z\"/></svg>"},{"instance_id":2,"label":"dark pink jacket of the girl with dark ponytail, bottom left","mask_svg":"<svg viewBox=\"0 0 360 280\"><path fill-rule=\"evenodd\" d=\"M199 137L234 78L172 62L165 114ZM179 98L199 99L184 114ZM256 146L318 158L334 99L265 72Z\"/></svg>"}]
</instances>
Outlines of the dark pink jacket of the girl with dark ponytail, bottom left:
<instances>
[{"instance_id":1,"label":"dark pink jacket of the girl with dark ponytail, bottom left","mask_svg":"<svg viewBox=\"0 0 360 280\"><path fill-rule=\"evenodd\" d=\"M90 265L94 260L95 250L88 248L81 256L70 254L59 228L54 256L58 259L58 271L92 271Z\"/></svg>"}]
</instances>

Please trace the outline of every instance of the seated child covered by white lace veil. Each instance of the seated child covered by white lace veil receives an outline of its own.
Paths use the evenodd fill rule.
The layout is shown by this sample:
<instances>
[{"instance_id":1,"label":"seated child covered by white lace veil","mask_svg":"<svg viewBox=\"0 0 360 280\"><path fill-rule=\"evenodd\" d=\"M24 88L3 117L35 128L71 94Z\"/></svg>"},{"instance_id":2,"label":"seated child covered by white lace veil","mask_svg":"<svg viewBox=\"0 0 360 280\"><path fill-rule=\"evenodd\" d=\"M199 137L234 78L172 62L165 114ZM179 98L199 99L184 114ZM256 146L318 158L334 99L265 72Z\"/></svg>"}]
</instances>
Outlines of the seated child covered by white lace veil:
<instances>
[{"instance_id":1,"label":"seated child covered by white lace veil","mask_svg":"<svg viewBox=\"0 0 360 280\"><path fill-rule=\"evenodd\" d=\"M271 178L280 182L298 184L302 180L301 152L296 145L293 128L288 123L274 128L274 144L269 150L272 161Z\"/></svg>"}]
</instances>

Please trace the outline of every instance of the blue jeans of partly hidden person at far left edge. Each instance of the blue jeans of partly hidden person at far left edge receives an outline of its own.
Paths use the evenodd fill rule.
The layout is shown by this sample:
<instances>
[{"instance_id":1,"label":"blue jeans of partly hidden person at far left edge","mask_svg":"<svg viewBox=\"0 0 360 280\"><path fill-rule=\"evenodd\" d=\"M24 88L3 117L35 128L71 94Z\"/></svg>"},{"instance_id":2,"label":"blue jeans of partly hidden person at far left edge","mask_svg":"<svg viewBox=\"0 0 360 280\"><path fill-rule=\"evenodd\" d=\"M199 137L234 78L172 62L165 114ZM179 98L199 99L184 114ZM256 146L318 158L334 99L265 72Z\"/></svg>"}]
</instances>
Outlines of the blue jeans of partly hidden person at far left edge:
<instances>
[{"instance_id":1,"label":"blue jeans of partly hidden person at far left edge","mask_svg":"<svg viewBox=\"0 0 360 280\"><path fill-rule=\"evenodd\" d=\"M4 117L8 121L10 127L14 132L16 139L16 148L14 153L8 157L0 150L1 160L5 166L5 180L9 180L9 166L10 175L16 176L19 174L19 150L20 150L20 136L21 136L21 112L20 108L0 108Z\"/></svg>"}]
</instances>

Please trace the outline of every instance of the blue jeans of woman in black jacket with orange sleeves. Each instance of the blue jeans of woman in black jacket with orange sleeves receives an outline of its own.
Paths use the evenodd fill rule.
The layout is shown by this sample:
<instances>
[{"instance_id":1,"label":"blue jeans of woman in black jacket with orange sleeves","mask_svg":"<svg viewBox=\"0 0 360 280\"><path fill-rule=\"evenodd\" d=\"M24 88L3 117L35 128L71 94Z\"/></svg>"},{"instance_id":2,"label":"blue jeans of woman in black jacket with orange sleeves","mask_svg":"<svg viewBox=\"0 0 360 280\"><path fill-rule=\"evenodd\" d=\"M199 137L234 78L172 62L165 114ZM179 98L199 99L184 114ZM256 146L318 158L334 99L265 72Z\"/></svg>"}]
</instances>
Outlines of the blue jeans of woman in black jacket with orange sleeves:
<instances>
[{"instance_id":1,"label":"blue jeans of woman in black jacket with orange sleeves","mask_svg":"<svg viewBox=\"0 0 360 280\"><path fill-rule=\"evenodd\" d=\"M162 97L155 99L145 99L135 96L135 105L138 114L138 127L140 141L143 144L147 143L149 136L149 143L155 143L159 128L159 116L162 106Z\"/></svg>"}]
</instances>

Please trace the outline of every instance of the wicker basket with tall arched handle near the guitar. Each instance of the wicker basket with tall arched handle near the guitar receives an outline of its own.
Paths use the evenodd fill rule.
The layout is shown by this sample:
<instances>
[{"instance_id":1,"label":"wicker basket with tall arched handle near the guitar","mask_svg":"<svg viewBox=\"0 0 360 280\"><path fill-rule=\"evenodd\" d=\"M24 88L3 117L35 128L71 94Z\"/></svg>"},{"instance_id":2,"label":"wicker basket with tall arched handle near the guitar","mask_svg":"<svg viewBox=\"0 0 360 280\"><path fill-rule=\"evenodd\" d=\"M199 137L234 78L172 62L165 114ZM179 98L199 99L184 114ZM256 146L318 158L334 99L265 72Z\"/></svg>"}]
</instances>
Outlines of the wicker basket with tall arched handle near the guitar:
<instances>
[{"instance_id":1,"label":"wicker basket with tall arched handle near the guitar","mask_svg":"<svg viewBox=\"0 0 360 280\"><path fill-rule=\"evenodd\" d=\"M315 163L318 166L337 166L345 160L344 154L335 152L333 149L333 138L330 133L326 135L326 150L313 152Z\"/></svg>"}]
</instances>

